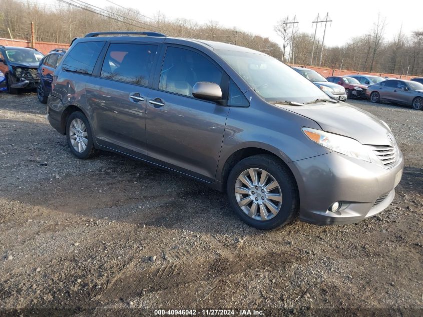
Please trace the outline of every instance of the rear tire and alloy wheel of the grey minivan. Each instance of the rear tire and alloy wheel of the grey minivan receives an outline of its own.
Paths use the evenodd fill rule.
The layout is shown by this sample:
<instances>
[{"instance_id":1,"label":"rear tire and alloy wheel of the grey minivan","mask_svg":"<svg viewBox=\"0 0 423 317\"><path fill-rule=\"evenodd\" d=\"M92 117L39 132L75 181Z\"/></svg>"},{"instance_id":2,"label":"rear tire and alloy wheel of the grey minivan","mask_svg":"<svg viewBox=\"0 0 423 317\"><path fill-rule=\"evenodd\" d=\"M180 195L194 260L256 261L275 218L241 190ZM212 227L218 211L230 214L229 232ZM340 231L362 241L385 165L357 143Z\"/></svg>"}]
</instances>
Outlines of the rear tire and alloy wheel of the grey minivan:
<instances>
[{"instance_id":1,"label":"rear tire and alloy wheel of the grey minivan","mask_svg":"<svg viewBox=\"0 0 423 317\"><path fill-rule=\"evenodd\" d=\"M93 134L87 117L80 111L73 112L66 123L66 138L71 152L86 160L97 154Z\"/></svg>"}]
</instances>

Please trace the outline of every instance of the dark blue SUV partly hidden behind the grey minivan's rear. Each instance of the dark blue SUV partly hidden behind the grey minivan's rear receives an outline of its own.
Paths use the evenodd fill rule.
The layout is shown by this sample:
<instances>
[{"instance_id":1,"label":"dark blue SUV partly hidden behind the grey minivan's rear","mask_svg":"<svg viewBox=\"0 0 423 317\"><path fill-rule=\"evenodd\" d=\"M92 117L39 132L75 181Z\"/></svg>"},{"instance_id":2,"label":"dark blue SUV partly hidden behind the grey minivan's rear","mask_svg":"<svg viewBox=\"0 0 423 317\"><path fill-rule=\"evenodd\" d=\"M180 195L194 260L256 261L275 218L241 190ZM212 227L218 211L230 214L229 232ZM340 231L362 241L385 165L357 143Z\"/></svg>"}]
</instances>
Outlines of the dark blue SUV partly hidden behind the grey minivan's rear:
<instances>
[{"instance_id":1,"label":"dark blue SUV partly hidden behind the grey minivan's rear","mask_svg":"<svg viewBox=\"0 0 423 317\"><path fill-rule=\"evenodd\" d=\"M52 91L53 73L65 53L66 49L54 49L40 61L37 70L37 77L40 79L37 86L37 97L43 104L47 103L47 98Z\"/></svg>"}]
</instances>

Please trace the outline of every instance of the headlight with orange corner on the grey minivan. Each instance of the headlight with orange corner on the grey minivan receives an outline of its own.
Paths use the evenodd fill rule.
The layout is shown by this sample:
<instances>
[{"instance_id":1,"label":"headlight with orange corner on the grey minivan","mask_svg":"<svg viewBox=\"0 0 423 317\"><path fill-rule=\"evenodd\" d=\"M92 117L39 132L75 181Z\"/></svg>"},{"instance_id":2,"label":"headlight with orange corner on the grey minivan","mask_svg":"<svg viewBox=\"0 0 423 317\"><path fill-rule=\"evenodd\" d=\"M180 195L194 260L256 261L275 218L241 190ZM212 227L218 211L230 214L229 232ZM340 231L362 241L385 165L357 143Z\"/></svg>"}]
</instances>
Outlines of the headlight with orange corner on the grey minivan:
<instances>
[{"instance_id":1,"label":"headlight with orange corner on the grey minivan","mask_svg":"<svg viewBox=\"0 0 423 317\"><path fill-rule=\"evenodd\" d=\"M369 150L357 140L305 127L302 128L302 131L310 140L325 148L359 160L371 162L368 154Z\"/></svg>"}]
</instances>

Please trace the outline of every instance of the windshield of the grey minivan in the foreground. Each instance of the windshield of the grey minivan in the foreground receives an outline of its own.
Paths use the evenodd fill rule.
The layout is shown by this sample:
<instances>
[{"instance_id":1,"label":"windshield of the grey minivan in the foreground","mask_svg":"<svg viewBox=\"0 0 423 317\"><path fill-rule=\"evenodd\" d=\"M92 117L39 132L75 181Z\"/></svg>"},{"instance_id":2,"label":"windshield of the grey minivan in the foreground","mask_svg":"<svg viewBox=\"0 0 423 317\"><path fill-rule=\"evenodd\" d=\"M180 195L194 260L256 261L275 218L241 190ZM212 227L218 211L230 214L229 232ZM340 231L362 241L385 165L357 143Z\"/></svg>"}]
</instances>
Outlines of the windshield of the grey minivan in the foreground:
<instances>
[{"instance_id":1,"label":"windshield of the grey minivan in the foreground","mask_svg":"<svg viewBox=\"0 0 423 317\"><path fill-rule=\"evenodd\" d=\"M215 52L268 102L329 99L312 82L273 57L240 51Z\"/></svg>"}]
</instances>

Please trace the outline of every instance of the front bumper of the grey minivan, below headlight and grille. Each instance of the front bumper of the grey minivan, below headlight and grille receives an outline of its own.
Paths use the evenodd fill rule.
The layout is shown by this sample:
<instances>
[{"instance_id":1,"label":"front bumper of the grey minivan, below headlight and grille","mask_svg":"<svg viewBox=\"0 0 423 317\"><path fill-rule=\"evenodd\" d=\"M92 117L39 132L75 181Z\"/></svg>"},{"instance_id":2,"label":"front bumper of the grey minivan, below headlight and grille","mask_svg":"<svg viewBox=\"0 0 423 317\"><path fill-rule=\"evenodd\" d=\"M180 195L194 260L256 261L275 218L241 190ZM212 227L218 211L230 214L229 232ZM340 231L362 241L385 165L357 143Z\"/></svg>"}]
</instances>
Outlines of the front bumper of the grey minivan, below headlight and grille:
<instances>
[{"instance_id":1,"label":"front bumper of the grey minivan, below headlight and grille","mask_svg":"<svg viewBox=\"0 0 423 317\"><path fill-rule=\"evenodd\" d=\"M403 157L398 154L389 169L336 152L288 163L298 184L300 220L345 224L381 212L392 202L402 176ZM336 201L342 202L341 209L328 211Z\"/></svg>"}]
</instances>

